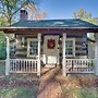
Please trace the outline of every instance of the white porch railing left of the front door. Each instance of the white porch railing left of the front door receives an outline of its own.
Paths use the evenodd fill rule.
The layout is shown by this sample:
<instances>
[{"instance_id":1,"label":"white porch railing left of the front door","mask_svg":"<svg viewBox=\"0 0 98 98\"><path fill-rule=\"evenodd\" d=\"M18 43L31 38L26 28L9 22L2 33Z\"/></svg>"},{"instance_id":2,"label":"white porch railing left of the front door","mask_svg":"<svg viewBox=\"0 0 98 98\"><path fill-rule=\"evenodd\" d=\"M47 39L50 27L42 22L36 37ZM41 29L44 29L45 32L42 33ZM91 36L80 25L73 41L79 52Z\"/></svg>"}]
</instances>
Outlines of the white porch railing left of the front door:
<instances>
[{"instance_id":1,"label":"white porch railing left of the front door","mask_svg":"<svg viewBox=\"0 0 98 98\"><path fill-rule=\"evenodd\" d=\"M37 60L11 59L10 73L37 73Z\"/></svg>"}]
</instances>

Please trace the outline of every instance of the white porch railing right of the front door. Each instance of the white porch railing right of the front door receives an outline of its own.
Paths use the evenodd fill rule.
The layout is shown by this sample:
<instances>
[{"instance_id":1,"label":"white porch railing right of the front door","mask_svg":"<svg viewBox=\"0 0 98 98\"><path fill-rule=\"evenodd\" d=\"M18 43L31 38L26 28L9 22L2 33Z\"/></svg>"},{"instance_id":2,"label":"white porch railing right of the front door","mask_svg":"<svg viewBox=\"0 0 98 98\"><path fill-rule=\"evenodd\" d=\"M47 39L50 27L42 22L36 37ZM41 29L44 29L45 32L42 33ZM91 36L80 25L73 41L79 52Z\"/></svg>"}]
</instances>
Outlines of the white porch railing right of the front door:
<instances>
[{"instance_id":1,"label":"white porch railing right of the front door","mask_svg":"<svg viewBox=\"0 0 98 98\"><path fill-rule=\"evenodd\" d=\"M65 59L66 73L94 73L94 59Z\"/></svg>"}]
</instances>

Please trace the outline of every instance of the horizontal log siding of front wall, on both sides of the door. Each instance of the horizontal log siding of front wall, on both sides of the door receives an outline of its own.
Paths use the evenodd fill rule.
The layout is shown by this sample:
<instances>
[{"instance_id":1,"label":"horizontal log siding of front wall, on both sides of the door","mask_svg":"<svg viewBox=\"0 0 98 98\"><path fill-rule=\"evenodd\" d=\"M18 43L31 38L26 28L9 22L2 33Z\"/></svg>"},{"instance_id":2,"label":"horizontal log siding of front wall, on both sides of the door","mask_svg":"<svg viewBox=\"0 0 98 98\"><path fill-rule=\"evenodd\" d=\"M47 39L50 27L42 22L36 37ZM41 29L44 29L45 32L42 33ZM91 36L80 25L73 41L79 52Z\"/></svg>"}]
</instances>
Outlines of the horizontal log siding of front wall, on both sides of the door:
<instances>
[{"instance_id":1,"label":"horizontal log siding of front wall, on both sides of the door","mask_svg":"<svg viewBox=\"0 0 98 98\"><path fill-rule=\"evenodd\" d=\"M83 34L84 35L84 34ZM87 57L87 46L83 46L83 42L86 41L86 39L83 38L82 34L75 34L75 33L69 33L66 35L68 38L75 38L75 57L71 58L81 58L81 57ZM25 36L25 44L24 47L21 46L21 37ZM27 38L37 38L37 36L27 36L27 35L16 35L16 39L19 40L17 45L14 41L11 41L11 44L14 42L15 45L15 53L14 58L28 58L27 57ZM62 42L60 44L60 57L62 57ZM41 54L44 53L44 44L41 44Z\"/></svg>"}]
</instances>

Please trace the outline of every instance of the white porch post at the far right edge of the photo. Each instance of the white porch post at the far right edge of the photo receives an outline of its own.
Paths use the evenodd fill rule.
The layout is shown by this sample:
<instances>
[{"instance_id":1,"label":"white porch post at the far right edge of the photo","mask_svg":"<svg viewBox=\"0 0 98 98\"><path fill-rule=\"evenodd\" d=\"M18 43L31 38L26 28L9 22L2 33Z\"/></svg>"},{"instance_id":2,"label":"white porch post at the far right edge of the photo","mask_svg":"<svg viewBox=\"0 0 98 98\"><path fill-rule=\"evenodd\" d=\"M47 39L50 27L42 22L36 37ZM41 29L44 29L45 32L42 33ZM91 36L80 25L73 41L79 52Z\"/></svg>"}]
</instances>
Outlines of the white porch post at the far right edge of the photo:
<instances>
[{"instance_id":1,"label":"white porch post at the far right edge of the photo","mask_svg":"<svg viewBox=\"0 0 98 98\"><path fill-rule=\"evenodd\" d=\"M98 33L95 34L95 74L98 75Z\"/></svg>"}]
</instances>

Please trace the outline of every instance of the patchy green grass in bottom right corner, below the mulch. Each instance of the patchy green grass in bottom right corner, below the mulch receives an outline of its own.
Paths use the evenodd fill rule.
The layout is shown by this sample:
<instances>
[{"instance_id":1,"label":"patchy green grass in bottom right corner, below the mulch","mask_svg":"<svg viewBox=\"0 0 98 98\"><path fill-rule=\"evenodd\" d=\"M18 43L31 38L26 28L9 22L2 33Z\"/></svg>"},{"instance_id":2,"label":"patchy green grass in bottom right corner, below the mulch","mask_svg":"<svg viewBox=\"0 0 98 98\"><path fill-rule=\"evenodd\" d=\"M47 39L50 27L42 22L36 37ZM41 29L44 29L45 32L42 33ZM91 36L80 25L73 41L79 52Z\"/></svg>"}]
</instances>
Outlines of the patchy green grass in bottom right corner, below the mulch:
<instances>
[{"instance_id":1,"label":"patchy green grass in bottom right corner, below the mulch","mask_svg":"<svg viewBox=\"0 0 98 98\"><path fill-rule=\"evenodd\" d=\"M63 86L63 98L98 98L98 88L73 88Z\"/></svg>"}]
</instances>

